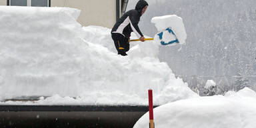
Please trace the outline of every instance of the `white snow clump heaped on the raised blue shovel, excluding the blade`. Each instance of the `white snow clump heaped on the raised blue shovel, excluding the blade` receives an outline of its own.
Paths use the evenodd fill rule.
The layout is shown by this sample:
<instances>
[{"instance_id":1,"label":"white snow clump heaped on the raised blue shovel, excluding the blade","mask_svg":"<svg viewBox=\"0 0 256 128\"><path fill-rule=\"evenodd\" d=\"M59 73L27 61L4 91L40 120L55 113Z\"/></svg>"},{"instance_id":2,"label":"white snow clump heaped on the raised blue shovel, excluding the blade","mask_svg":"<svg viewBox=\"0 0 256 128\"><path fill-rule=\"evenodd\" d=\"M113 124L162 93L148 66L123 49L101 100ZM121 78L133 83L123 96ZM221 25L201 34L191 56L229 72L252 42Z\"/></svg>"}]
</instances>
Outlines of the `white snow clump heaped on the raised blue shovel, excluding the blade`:
<instances>
[{"instance_id":1,"label":"white snow clump heaped on the raised blue shovel, excluding the blade","mask_svg":"<svg viewBox=\"0 0 256 128\"><path fill-rule=\"evenodd\" d=\"M179 40L179 44L184 45L186 43L185 41L187 39L187 33L181 17L178 17L177 15L163 15L160 17L153 17L151 19L151 22L155 23L157 31L163 31L163 41L165 41L166 43L175 40L175 37L173 37L173 35L165 31L165 29L167 29L168 27L170 27L173 33L175 33L177 39ZM156 41L159 41L159 36L155 35L154 39Z\"/></svg>"}]
</instances>

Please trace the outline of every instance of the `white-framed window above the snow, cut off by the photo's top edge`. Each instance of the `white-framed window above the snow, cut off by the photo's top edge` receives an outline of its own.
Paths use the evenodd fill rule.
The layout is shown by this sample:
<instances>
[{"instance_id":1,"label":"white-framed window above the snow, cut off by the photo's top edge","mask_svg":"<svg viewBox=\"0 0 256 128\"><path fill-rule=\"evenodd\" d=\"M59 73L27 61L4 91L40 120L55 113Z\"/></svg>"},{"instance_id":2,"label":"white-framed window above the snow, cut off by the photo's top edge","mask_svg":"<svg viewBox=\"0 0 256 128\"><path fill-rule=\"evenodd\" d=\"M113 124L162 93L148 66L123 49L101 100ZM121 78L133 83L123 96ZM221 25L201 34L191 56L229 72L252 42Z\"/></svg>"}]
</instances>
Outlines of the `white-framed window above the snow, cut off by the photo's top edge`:
<instances>
[{"instance_id":1,"label":"white-framed window above the snow, cut off by the photo's top edge","mask_svg":"<svg viewBox=\"0 0 256 128\"><path fill-rule=\"evenodd\" d=\"M7 0L11 6L50 7L51 0Z\"/></svg>"}]
</instances>

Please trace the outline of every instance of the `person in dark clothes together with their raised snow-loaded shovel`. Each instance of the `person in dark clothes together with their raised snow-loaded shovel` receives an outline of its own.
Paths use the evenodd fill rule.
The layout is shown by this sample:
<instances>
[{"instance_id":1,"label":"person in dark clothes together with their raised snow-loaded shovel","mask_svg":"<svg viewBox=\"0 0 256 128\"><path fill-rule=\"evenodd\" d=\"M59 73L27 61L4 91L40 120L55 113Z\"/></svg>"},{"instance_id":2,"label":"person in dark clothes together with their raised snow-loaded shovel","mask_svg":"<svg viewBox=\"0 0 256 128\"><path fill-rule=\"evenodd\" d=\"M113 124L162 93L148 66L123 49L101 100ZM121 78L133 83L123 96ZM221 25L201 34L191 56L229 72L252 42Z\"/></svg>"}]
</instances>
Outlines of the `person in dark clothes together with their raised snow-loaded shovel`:
<instances>
[{"instance_id":1,"label":"person in dark clothes together with their raised snow-loaded shovel","mask_svg":"<svg viewBox=\"0 0 256 128\"><path fill-rule=\"evenodd\" d=\"M177 15L153 17L151 22L155 23L158 33L155 35L155 38L145 39L138 27L138 23L141 15L147 10L147 6L148 3L145 0L139 0L135 9L127 11L127 13L115 23L111 35L119 55L127 55L126 52L129 51L129 42L131 41L154 40L161 45L185 44L187 33L183 20ZM134 32L139 39L129 40L131 32Z\"/></svg>"}]
</instances>

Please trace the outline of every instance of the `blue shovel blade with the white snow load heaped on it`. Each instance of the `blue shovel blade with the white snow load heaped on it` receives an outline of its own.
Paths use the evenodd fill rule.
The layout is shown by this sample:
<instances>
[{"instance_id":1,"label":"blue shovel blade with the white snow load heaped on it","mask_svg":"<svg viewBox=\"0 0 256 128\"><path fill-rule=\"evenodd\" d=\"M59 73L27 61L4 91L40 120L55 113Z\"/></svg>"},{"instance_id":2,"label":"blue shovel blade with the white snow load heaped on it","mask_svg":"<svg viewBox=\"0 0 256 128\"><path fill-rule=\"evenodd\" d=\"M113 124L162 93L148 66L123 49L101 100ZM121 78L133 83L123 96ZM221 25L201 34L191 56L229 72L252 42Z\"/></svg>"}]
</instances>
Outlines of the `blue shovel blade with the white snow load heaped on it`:
<instances>
[{"instance_id":1,"label":"blue shovel blade with the white snow load heaped on it","mask_svg":"<svg viewBox=\"0 0 256 128\"><path fill-rule=\"evenodd\" d=\"M185 44L187 33L181 17L177 15L165 15L161 17L153 17L152 23L155 23L157 31L159 31L154 40L161 45Z\"/></svg>"}]
</instances>

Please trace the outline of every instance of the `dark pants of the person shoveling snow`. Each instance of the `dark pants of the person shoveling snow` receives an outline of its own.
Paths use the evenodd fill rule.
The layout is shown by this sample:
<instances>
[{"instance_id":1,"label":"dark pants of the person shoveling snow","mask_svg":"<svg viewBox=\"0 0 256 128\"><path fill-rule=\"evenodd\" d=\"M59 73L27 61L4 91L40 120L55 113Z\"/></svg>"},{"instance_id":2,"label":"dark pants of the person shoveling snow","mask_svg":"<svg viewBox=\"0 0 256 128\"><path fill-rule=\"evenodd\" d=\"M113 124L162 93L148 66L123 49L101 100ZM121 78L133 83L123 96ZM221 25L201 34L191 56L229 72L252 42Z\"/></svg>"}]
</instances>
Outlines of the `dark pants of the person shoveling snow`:
<instances>
[{"instance_id":1,"label":"dark pants of the person shoveling snow","mask_svg":"<svg viewBox=\"0 0 256 128\"><path fill-rule=\"evenodd\" d=\"M129 39L120 33L111 33L111 36L118 54L126 55L126 52L130 49Z\"/></svg>"}]
</instances>

